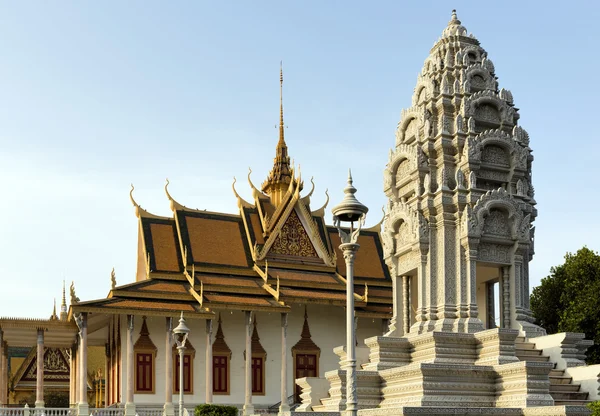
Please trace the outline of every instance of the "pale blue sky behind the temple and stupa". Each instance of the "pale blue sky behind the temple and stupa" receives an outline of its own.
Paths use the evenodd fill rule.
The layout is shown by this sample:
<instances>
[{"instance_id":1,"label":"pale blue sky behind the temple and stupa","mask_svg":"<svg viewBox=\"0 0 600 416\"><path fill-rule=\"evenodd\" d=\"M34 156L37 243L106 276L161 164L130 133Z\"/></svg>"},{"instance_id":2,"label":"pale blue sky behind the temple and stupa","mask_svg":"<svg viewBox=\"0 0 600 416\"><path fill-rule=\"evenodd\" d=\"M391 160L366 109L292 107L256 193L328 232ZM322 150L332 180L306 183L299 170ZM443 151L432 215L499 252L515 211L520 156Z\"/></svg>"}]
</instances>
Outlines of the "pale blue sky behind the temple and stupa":
<instances>
[{"instance_id":1,"label":"pale blue sky behind the temple and stupa","mask_svg":"<svg viewBox=\"0 0 600 416\"><path fill-rule=\"evenodd\" d=\"M543 4L543 7L541 6ZM458 10L531 137L539 216L531 285L597 219L600 65L595 2L0 1L0 316L50 316L135 280L129 201L236 213L266 178L279 63L286 141L314 208L356 196L381 219L383 169L430 48ZM329 220L331 220L329 218Z\"/></svg>"}]
</instances>

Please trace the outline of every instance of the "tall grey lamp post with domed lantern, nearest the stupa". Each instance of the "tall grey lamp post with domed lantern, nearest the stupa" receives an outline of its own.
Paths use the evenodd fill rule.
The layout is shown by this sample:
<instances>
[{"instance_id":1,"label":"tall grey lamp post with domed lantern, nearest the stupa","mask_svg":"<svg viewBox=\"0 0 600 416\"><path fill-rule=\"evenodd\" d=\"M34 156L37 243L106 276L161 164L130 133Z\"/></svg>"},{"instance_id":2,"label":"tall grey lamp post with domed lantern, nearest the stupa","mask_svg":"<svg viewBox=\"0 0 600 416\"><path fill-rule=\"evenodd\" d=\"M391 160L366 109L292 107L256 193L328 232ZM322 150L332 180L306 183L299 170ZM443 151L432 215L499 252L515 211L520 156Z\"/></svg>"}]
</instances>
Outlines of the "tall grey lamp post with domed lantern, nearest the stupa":
<instances>
[{"instance_id":1,"label":"tall grey lamp post with domed lantern, nearest the stupa","mask_svg":"<svg viewBox=\"0 0 600 416\"><path fill-rule=\"evenodd\" d=\"M342 244L340 250L346 261L346 415L356 416L358 399L356 396L356 356L355 356L355 327L354 327L354 258L359 249L358 234L365 223L369 209L361 204L354 194L352 174L348 171L348 185L344 188L344 199L331 209L333 224L337 228ZM357 222L356 229L354 222ZM342 223L348 223L349 228L343 229Z\"/></svg>"}]
</instances>

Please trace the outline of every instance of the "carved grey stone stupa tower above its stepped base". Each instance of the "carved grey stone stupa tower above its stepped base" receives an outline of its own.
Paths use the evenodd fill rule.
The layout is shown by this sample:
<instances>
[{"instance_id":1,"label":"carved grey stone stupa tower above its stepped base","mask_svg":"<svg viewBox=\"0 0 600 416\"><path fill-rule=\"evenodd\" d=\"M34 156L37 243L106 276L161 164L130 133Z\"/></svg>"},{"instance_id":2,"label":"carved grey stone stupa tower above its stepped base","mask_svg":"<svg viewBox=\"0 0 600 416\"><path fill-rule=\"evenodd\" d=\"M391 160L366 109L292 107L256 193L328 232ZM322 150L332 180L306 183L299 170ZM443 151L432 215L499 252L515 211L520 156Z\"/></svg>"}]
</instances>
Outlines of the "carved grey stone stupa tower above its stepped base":
<instances>
[{"instance_id":1,"label":"carved grey stone stupa tower above its stepped base","mask_svg":"<svg viewBox=\"0 0 600 416\"><path fill-rule=\"evenodd\" d=\"M394 278L390 335L477 332L528 337L529 261L537 215L529 136L510 91L453 11L402 111L384 173L383 240Z\"/></svg>"}]
</instances>

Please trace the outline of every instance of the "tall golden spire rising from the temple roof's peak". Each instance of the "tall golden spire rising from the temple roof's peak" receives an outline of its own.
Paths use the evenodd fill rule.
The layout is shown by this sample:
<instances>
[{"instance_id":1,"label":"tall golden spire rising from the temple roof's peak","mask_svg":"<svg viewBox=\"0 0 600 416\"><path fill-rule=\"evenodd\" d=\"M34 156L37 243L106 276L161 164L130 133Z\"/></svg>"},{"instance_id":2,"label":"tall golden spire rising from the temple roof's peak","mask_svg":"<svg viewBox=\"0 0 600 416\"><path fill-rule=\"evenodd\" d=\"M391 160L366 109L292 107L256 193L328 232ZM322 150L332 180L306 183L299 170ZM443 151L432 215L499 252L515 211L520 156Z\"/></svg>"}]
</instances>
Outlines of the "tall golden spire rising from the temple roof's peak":
<instances>
[{"instance_id":1,"label":"tall golden spire rising from the temple roof's peak","mask_svg":"<svg viewBox=\"0 0 600 416\"><path fill-rule=\"evenodd\" d=\"M290 157L287 152L283 124L283 65L279 68L279 141L275 150L273 168L263 182L262 191L271 197L273 205L278 205L292 181Z\"/></svg>"}]
</instances>

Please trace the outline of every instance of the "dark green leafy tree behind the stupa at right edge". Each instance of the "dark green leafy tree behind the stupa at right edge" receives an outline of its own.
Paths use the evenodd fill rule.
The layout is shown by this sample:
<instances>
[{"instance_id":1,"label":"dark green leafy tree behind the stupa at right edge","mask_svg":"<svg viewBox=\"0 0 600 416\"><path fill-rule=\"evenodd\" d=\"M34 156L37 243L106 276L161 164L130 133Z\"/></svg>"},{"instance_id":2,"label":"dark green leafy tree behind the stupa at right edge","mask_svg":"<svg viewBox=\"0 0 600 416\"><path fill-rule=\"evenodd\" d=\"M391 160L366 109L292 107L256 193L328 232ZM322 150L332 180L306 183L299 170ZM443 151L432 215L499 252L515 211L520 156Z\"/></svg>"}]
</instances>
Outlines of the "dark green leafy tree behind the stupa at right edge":
<instances>
[{"instance_id":1,"label":"dark green leafy tree behind the stupa at right edge","mask_svg":"<svg viewBox=\"0 0 600 416\"><path fill-rule=\"evenodd\" d=\"M583 247L567 253L550 273L531 294L538 324L549 334L584 333L595 344L587 350L587 363L600 363L600 255Z\"/></svg>"}]
</instances>

